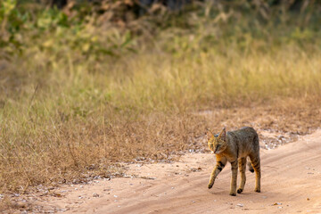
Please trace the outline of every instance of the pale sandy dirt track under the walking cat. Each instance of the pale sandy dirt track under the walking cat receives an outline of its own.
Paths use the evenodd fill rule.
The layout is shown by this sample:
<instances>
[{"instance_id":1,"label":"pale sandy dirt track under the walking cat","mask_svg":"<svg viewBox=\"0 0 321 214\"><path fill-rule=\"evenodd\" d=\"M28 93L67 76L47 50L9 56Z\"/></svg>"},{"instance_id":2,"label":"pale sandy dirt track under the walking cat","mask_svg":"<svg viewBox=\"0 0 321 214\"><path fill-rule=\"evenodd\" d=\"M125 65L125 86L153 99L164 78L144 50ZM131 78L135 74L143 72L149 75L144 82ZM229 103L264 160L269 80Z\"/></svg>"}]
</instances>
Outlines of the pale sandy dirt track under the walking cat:
<instances>
[{"instance_id":1,"label":"pale sandy dirt track under the walking cat","mask_svg":"<svg viewBox=\"0 0 321 214\"><path fill-rule=\"evenodd\" d=\"M39 205L66 213L321 213L321 131L261 150L261 193L253 192L254 174L247 171L244 192L230 196L229 166L207 189L214 160L206 153L172 164L133 164L127 173L144 178L62 186L63 197L47 197Z\"/></svg>"}]
</instances>

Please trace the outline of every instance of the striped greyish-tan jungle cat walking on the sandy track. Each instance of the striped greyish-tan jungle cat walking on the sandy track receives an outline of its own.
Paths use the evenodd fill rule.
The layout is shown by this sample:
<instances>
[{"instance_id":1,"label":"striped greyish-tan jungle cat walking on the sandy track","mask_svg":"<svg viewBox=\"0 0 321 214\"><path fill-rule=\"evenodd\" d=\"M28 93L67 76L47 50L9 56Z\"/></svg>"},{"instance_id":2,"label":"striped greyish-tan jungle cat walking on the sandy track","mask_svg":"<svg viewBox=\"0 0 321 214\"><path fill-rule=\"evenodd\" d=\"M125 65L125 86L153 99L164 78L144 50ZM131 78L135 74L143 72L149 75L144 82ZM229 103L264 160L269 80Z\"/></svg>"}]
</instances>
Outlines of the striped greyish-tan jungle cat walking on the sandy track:
<instances>
[{"instance_id":1,"label":"striped greyish-tan jungle cat walking on the sandy track","mask_svg":"<svg viewBox=\"0 0 321 214\"><path fill-rule=\"evenodd\" d=\"M236 195L237 168L240 169L241 182L237 193L242 193L245 185L246 161L249 157L250 171L255 171L255 192L260 192L259 136L254 128L244 127L226 132L223 128L219 135L208 132L210 150L216 154L217 164L210 175L209 189L214 185L215 178L226 166L227 161L232 166L230 195Z\"/></svg>"}]
</instances>

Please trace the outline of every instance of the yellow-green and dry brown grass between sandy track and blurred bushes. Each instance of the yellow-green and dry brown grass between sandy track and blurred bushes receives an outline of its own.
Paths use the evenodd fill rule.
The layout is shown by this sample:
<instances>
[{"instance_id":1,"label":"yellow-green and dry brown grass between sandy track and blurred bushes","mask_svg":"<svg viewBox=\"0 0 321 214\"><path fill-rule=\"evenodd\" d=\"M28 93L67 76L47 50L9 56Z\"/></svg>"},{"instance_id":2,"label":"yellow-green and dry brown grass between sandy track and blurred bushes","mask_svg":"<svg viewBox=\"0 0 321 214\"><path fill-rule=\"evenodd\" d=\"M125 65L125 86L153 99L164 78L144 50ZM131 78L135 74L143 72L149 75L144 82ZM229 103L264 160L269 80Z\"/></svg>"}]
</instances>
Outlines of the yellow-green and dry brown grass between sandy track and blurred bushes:
<instances>
[{"instance_id":1,"label":"yellow-green and dry brown grass between sandy track and blurred bushes","mask_svg":"<svg viewBox=\"0 0 321 214\"><path fill-rule=\"evenodd\" d=\"M284 116L255 127L309 133L319 126L313 119L320 92L319 54L308 57L291 46L277 53L230 50L177 60L142 54L114 66L101 64L100 72L91 70L89 62L66 65L62 59L45 74L37 73L42 68L38 62L17 63L20 68L13 74L18 78L8 81L30 73L23 76L25 83L12 87L15 96L2 100L1 188L23 192L30 185L70 181L88 171L103 175L118 161L166 159L173 151L193 147L193 137L205 128L220 128L226 119L229 127L251 125L228 110L210 120L191 115L204 109L267 104L249 115Z\"/></svg>"}]
</instances>

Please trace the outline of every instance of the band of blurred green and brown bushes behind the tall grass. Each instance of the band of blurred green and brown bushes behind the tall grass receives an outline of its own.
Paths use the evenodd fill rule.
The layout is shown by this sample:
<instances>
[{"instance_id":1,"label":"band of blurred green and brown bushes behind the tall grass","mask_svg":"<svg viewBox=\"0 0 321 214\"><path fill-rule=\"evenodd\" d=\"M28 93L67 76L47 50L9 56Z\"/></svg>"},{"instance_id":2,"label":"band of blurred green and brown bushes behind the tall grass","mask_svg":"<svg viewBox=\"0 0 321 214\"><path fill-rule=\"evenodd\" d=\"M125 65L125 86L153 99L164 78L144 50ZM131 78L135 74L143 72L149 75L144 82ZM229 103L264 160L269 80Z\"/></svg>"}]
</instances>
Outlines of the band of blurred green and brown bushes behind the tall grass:
<instances>
[{"instance_id":1,"label":"band of blurred green and brown bushes behind the tall grass","mask_svg":"<svg viewBox=\"0 0 321 214\"><path fill-rule=\"evenodd\" d=\"M61 10L32 1L17 4L16 0L4 0L0 7L0 57L10 59L10 55L35 45L54 52L70 48L96 59L138 52L155 44L153 41L158 41L157 48L174 54L199 48L224 51L226 45L246 50L260 44L262 51L293 42L320 45L319 4L304 4L299 12L292 12L286 4L272 6L271 2L222 3L191 4L178 12L153 4L137 16L132 1L70 1Z\"/></svg>"}]
</instances>

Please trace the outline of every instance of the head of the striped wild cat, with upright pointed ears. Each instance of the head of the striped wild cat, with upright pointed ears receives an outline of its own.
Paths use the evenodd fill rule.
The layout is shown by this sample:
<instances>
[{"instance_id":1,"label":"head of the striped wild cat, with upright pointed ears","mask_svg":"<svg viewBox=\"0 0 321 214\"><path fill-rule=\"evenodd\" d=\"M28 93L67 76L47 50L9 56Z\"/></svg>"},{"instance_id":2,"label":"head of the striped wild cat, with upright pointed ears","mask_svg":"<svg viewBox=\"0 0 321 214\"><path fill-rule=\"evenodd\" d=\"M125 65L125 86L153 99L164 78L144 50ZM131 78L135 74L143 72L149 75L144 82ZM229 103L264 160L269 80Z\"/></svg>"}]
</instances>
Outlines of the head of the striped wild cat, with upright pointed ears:
<instances>
[{"instance_id":1,"label":"head of the striped wild cat, with upright pointed ears","mask_svg":"<svg viewBox=\"0 0 321 214\"><path fill-rule=\"evenodd\" d=\"M208 131L207 136L209 148L215 154L223 152L226 149L226 128L223 128L219 135L214 135L211 131Z\"/></svg>"}]
</instances>

